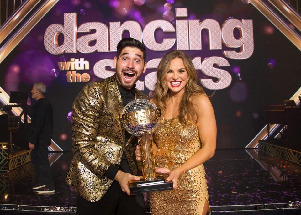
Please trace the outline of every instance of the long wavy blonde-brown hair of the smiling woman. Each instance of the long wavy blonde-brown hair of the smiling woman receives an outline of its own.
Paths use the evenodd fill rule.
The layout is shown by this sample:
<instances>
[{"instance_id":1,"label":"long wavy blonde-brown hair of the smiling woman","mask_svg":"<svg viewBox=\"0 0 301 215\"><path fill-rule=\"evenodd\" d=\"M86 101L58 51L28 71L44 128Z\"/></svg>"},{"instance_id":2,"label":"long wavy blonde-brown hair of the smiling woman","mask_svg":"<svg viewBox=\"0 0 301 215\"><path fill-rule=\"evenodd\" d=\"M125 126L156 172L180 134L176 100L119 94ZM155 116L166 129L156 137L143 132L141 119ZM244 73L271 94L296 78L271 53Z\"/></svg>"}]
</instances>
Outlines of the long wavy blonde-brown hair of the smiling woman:
<instances>
[{"instance_id":1,"label":"long wavy blonde-brown hair of the smiling woman","mask_svg":"<svg viewBox=\"0 0 301 215\"><path fill-rule=\"evenodd\" d=\"M166 110L166 99L170 96L168 91L167 82L165 81L165 76L169 70L169 65L171 61L175 58L180 58L183 60L185 69L188 73L187 83L185 86L185 92L180 102L179 110L179 121L182 126L185 127L186 119L193 120L195 114L193 103L189 101L190 97L194 94L206 95L205 91L201 86L197 84L197 73L193 66L190 57L183 51L174 50L168 52L159 63L157 69L157 83L155 85L155 100L158 108L161 109L162 113Z\"/></svg>"}]
</instances>

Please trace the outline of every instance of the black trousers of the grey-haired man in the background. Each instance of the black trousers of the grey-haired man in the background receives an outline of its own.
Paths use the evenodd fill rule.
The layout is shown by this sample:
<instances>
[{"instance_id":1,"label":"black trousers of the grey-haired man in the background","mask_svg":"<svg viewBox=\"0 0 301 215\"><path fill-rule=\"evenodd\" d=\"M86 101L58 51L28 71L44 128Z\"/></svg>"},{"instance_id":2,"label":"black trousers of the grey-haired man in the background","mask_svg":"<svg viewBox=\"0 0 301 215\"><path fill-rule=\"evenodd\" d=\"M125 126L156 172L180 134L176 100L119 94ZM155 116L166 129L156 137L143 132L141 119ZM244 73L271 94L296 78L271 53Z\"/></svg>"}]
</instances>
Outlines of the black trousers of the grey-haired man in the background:
<instances>
[{"instance_id":1,"label":"black trousers of the grey-haired man in the background","mask_svg":"<svg viewBox=\"0 0 301 215\"><path fill-rule=\"evenodd\" d=\"M31 150L31 162L39 183L45 184L47 188L54 188L53 178L48 160L48 143L38 142Z\"/></svg>"}]
</instances>

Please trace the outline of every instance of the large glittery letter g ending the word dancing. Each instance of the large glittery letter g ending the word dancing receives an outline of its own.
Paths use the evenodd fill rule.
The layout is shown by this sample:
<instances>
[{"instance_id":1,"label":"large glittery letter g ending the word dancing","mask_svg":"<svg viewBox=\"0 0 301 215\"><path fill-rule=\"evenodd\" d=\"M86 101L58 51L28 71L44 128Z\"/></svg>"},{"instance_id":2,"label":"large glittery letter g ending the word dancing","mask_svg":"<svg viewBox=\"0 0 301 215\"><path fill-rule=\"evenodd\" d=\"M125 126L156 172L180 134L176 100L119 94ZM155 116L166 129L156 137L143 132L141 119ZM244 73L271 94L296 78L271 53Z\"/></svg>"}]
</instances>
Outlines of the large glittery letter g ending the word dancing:
<instances>
[{"instance_id":1,"label":"large glittery letter g ending the word dancing","mask_svg":"<svg viewBox=\"0 0 301 215\"><path fill-rule=\"evenodd\" d=\"M239 39L233 35L233 30L237 28L240 32ZM247 59L254 51L253 22L251 19L229 19L222 25L222 39L224 45L230 48L239 48L240 52L223 51L223 54L231 59Z\"/></svg>"}]
</instances>

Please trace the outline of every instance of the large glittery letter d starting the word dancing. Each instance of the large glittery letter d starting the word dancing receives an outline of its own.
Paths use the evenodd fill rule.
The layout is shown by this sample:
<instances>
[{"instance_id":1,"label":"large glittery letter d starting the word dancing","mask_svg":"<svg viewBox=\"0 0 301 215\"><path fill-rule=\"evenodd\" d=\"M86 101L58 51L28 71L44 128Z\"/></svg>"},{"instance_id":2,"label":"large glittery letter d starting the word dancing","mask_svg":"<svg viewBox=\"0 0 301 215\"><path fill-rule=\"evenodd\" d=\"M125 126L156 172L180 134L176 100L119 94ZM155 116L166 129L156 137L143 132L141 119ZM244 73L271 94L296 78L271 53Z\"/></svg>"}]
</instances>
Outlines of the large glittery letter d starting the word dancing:
<instances>
[{"instance_id":1,"label":"large glittery letter d starting the word dancing","mask_svg":"<svg viewBox=\"0 0 301 215\"><path fill-rule=\"evenodd\" d=\"M62 45L58 43L58 36L64 35ZM77 13L64 13L64 25L49 25L44 34L45 49L53 55L76 53L75 42L77 39Z\"/></svg>"}]
</instances>

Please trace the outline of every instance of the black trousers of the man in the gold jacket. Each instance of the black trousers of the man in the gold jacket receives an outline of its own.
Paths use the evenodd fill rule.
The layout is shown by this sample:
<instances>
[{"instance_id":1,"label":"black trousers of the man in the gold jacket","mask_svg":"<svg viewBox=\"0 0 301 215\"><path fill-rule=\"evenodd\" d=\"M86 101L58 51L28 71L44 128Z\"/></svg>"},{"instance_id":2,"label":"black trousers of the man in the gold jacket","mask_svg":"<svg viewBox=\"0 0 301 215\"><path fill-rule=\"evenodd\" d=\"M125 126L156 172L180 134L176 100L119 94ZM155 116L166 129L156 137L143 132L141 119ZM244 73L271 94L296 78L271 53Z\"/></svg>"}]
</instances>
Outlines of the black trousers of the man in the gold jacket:
<instances>
[{"instance_id":1,"label":"black trousers of the man in the gold jacket","mask_svg":"<svg viewBox=\"0 0 301 215\"><path fill-rule=\"evenodd\" d=\"M88 215L143 215L143 194L129 196L121 190L118 181L113 181L106 194L97 202L90 202L77 195L76 214Z\"/></svg>"}]
</instances>

